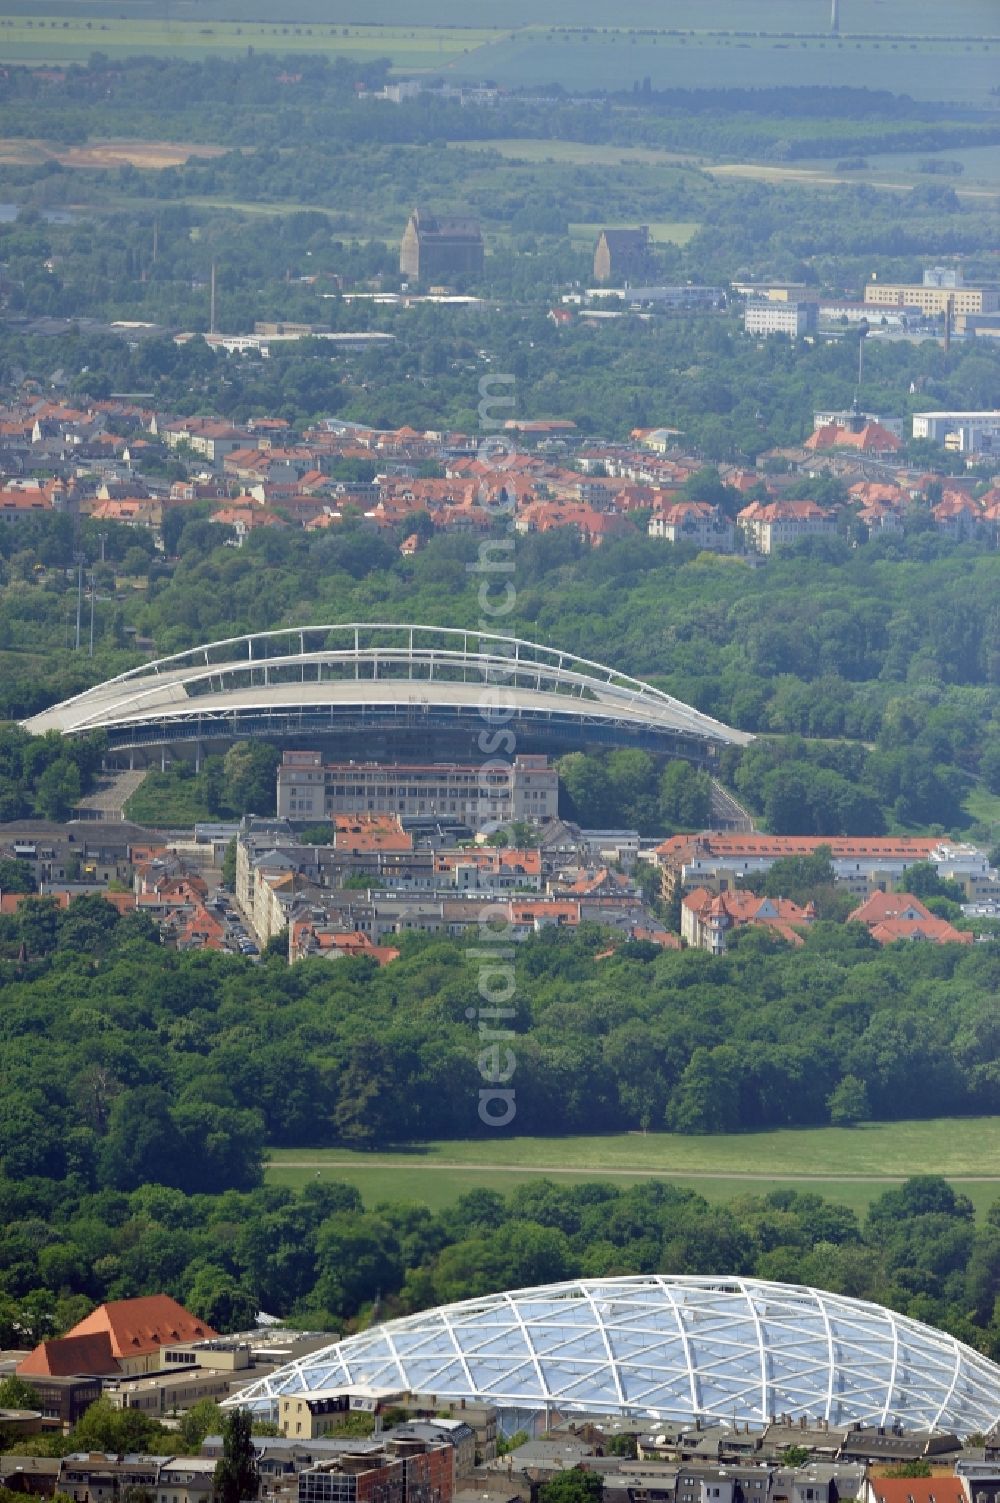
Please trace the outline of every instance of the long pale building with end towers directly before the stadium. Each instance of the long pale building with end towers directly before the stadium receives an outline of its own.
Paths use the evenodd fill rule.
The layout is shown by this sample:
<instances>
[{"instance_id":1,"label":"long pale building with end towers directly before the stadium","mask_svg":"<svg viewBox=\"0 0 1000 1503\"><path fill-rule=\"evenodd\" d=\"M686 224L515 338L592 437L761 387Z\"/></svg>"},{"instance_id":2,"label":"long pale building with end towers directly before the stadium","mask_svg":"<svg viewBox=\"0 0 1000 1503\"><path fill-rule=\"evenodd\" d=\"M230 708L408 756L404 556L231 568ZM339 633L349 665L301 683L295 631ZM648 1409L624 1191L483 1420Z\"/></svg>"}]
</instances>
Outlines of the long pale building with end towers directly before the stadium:
<instances>
[{"instance_id":1,"label":"long pale building with end towers directly before the stadium","mask_svg":"<svg viewBox=\"0 0 1000 1503\"><path fill-rule=\"evenodd\" d=\"M472 764L328 762L286 752L278 768L278 818L316 822L335 813L442 818L478 830L490 822L553 819L559 777L546 756L510 767Z\"/></svg>"}]
</instances>

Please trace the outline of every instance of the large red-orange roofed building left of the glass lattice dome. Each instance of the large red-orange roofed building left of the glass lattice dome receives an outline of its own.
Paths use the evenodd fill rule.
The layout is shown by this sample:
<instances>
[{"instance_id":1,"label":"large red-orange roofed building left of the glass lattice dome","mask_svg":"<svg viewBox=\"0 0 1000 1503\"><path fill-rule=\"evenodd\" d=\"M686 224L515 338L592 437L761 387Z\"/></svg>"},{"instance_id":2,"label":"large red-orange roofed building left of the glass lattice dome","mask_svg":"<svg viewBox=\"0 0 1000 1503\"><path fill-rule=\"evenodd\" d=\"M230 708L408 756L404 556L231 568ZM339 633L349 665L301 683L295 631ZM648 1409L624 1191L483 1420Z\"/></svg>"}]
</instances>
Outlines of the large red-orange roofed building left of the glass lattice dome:
<instances>
[{"instance_id":1,"label":"large red-orange roofed building left of the glass lattice dome","mask_svg":"<svg viewBox=\"0 0 1000 1503\"><path fill-rule=\"evenodd\" d=\"M218 1332L168 1294L99 1305L56 1341L42 1341L24 1357L26 1377L155 1372L159 1351L182 1341L211 1341Z\"/></svg>"}]
</instances>

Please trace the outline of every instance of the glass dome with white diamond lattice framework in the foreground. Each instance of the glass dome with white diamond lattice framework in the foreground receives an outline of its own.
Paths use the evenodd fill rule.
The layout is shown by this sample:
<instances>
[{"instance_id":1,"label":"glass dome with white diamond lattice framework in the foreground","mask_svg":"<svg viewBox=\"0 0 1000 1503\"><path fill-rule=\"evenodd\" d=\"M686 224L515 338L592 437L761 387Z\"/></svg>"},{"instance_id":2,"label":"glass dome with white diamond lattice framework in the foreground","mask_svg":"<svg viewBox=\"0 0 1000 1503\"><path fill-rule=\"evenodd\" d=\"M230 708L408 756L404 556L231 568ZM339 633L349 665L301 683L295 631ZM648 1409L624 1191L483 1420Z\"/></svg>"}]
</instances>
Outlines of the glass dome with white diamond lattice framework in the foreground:
<instances>
[{"instance_id":1,"label":"glass dome with white diamond lattice framework in the foreground","mask_svg":"<svg viewBox=\"0 0 1000 1503\"><path fill-rule=\"evenodd\" d=\"M278 1368L227 1401L427 1393L504 1410L765 1423L902 1425L959 1435L1000 1420L1000 1368L863 1300L761 1279L644 1275L493 1294L389 1321Z\"/></svg>"}]
</instances>

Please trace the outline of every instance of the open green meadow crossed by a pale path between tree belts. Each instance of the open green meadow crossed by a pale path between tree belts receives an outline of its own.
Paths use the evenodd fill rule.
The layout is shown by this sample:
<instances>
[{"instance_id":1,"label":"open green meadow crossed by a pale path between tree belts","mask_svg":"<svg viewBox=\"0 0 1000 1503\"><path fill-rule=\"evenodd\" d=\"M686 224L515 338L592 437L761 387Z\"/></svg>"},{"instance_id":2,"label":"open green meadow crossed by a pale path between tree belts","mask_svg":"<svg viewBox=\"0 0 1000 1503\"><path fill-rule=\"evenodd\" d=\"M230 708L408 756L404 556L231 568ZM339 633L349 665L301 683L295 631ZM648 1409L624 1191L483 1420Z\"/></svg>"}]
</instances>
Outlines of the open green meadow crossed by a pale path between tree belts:
<instances>
[{"instance_id":1,"label":"open green meadow crossed by a pale path between tree belts","mask_svg":"<svg viewBox=\"0 0 1000 1503\"><path fill-rule=\"evenodd\" d=\"M268 1180L302 1186L346 1180L365 1201L442 1207L465 1190L501 1192L538 1175L636 1183L668 1178L708 1199L811 1189L857 1211L911 1174L944 1174L982 1214L1000 1199L1000 1117L869 1123L863 1127L681 1138L624 1133L608 1138L496 1138L430 1142L397 1153L340 1148L275 1150Z\"/></svg>"}]
</instances>

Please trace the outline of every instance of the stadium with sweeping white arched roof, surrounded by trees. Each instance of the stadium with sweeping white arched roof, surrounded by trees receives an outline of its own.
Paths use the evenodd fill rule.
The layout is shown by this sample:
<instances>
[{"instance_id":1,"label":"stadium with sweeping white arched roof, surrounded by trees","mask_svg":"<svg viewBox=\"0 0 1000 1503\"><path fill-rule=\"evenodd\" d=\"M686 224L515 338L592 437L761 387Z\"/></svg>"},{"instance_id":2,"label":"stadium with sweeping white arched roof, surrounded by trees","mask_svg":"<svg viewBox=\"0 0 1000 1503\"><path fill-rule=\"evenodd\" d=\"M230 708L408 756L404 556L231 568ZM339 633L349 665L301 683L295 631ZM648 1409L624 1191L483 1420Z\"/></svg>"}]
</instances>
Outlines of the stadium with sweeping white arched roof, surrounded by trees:
<instances>
[{"instance_id":1,"label":"stadium with sweeping white arched roof, surrounded by trees","mask_svg":"<svg viewBox=\"0 0 1000 1503\"><path fill-rule=\"evenodd\" d=\"M454 627L349 622L257 631L158 658L27 720L113 747L358 729L481 730L656 747L753 738L663 690L555 648Z\"/></svg>"}]
</instances>

